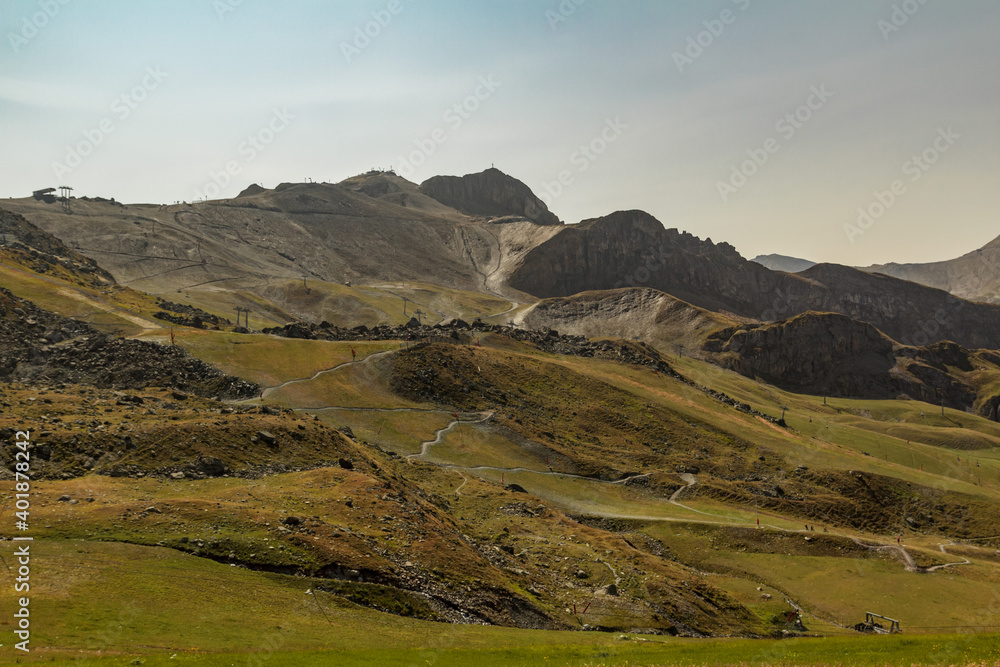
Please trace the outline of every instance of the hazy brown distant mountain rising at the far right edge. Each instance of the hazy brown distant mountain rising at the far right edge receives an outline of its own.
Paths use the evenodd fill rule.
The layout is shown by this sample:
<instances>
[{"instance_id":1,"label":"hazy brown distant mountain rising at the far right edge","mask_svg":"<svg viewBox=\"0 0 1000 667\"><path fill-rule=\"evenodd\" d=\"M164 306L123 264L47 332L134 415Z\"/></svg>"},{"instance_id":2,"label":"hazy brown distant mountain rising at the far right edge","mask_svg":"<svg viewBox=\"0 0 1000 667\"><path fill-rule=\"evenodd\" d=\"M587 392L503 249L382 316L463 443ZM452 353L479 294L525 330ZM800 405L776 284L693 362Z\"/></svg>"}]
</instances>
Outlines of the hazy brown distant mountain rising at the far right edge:
<instances>
[{"instance_id":1,"label":"hazy brown distant mountain rising at the far right edge","mask_svg":"<svg viewBox=\"0 0 1000 667\"><path fill-rule=\"evenodd\" d=\"M863 270L937 287L971 301L1000 303L1000 236L978 250L943 262L873 264Z\"/></svg>"}]
</instances>

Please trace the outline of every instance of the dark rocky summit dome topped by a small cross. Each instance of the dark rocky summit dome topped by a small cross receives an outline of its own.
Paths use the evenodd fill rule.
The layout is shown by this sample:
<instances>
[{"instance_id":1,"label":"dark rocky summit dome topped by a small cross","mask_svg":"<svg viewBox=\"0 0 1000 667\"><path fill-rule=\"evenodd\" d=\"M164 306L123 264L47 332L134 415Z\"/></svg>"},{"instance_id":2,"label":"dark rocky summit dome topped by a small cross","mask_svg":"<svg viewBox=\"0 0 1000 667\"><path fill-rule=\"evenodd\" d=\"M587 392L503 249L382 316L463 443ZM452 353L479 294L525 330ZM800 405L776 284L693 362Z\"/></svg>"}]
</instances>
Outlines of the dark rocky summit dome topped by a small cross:
<instances>
[{"instance_id":1,"label":"dark rocky summit dome topped by a small cross","mask_svg":"<svg viewBox=\"0 0 1000 667\"><path fill-rule=\"evenodd\" d=\"M434 176L420 191L466 215L517 216L540 225L561 224L527 185L499 169L465 176Z\"/></svg>"}]
</instances>

